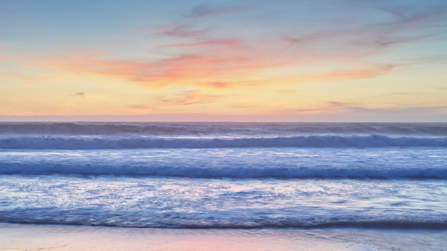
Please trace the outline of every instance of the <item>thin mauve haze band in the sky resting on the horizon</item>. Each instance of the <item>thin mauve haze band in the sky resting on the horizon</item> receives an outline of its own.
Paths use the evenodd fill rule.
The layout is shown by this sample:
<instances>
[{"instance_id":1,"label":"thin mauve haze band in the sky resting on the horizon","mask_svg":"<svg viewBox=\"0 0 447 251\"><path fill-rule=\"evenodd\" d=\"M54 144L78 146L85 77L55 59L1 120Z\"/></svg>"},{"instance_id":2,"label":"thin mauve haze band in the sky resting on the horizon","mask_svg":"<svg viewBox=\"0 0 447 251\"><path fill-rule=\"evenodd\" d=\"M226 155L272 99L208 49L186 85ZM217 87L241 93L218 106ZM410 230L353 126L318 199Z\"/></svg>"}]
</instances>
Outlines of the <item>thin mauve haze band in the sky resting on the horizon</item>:
<instances>
[{"instance_id":1,"label":"thin mauve haze band in the sky resting on the horizon","mask_svg":"<svg viewBox=\"0 0 447 251\"><path fill-rule=\"evenodd\" d=\"M447 115L0 115L0 122L446 123Z\"/></svg>"}]
</instances>

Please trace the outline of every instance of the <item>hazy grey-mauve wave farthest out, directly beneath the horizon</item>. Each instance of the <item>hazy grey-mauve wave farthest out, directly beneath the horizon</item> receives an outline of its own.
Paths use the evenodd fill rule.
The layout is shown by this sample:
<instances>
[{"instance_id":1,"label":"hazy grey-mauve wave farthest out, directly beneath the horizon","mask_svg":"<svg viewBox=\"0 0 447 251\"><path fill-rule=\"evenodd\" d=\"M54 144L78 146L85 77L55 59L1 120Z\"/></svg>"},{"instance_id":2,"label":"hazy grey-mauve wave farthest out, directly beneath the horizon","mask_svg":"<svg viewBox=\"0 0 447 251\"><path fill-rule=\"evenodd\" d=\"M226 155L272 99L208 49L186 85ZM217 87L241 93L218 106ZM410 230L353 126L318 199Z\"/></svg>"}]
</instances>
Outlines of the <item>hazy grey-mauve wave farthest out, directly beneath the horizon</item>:
<instances>
[{"instance_id":1,"label":"hazy grey-mauve wave farthest out, directly beneath the horizon","mask_svg":"<svg viewBox=\"0 0 447 251\"><path fill-rule=\"evenodd\" d=\"M391 134L447 136L447 123L0 122L0 135L209 136Z\"/></svg>"}]
</instances>

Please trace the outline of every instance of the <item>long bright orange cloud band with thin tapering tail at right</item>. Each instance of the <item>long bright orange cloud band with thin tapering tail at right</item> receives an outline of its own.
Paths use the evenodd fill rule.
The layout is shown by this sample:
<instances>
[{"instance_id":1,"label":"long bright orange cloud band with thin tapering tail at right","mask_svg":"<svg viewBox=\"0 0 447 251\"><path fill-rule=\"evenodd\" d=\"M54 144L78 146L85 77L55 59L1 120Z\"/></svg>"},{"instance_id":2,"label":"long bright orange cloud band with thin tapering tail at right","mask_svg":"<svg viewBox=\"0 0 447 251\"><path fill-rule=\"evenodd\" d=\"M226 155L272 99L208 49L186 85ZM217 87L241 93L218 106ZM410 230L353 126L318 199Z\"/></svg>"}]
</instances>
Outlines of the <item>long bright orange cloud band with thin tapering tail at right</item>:
<instances>
[{"instance_id":1,"label":"long bright orange cloud band with thin tapering tail at right","mask_svg":"<svg viewBox=\"0 0 447 251\"><path fill-rule=\"evenodd\" d=\"M84 74L107 75L127 79L143 86L194 85L225 88L229 82L240 81L245 76L265 80L272 84L275 78L262 74L263 71L281 67L303 65L305 62L287 58L265 58L266 55L241 53L239 55L181 55L158 61L113 61L102 59L97 55L52 57L55 66ZM333 58L334 59L334 58ZM342 58L341 60L343 60ZM324 59L323 59L324 60ZM332 70L314 74L283 74L278 78L296 79L297 82L342 81L356 78L373 78L384 74L398 65L365 64L352 69Z\"/></svg>"}]
</instances>

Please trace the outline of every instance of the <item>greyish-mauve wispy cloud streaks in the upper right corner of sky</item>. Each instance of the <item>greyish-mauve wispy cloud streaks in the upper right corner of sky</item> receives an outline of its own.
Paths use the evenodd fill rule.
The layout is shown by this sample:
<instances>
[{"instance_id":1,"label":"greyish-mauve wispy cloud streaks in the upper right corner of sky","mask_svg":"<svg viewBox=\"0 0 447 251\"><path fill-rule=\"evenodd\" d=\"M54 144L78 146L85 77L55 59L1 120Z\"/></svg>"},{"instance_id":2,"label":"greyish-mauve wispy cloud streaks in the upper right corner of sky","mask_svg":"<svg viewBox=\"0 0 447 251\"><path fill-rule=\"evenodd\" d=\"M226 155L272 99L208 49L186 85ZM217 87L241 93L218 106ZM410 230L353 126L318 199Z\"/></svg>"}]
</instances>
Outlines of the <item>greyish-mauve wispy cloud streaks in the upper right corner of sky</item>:
<instances>
[{"instance_id":1,"label":"greyish-mauve wispy cloud streaks in the upper right corner of sky","mask_svg":"<svg viewBox=\"0 0 447 251\"><path fill-rule=\"evenodd\" d=\"M359 2L362 1L356 4ZM369 8L377 12L389 13L390 18L383 19L384 21L373 19L367 23L360 22L359 25L349 29L342 27L299 35L289 33L284 35L283 39L296 46L333 44L337 45L333 48L337 51L361 49L364 52L380 52L398 44L447 40L446 29L439 29L447 27L447 5L409 8L408 6L388 7L384 3L376 6L379 5L376 1L367 1L367 3L370 5ZM371 13L370 11L367 14Z\"/></svg>"}]
</instances>

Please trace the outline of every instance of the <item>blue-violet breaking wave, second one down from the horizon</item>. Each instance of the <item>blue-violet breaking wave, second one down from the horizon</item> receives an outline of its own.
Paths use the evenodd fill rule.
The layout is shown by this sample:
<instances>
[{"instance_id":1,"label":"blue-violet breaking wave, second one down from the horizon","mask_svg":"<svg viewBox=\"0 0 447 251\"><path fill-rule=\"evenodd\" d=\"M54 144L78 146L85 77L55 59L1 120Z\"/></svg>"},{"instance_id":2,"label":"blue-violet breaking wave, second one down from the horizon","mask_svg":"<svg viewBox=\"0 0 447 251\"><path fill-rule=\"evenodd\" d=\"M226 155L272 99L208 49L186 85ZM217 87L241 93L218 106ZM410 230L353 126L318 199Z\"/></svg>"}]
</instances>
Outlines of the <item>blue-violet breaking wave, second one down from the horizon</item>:
<instances>
[{"instance_id":1,"label":"blue-violet breaking wave, second one down from the horizon","mask_svg":"<svg viewBox=\"0 0 447 251\"><path fill-rule=\"evenodd\" d=\"M27 136L0 138L3 149L247 148L247 147L447 147L447 137L296 136L273 138L156 138Z\"/></svg>"}]
</instances>

